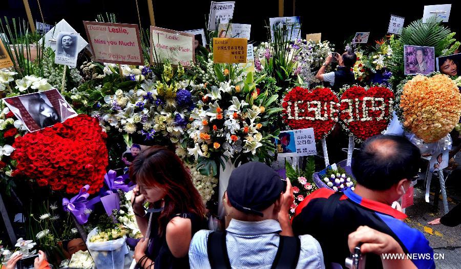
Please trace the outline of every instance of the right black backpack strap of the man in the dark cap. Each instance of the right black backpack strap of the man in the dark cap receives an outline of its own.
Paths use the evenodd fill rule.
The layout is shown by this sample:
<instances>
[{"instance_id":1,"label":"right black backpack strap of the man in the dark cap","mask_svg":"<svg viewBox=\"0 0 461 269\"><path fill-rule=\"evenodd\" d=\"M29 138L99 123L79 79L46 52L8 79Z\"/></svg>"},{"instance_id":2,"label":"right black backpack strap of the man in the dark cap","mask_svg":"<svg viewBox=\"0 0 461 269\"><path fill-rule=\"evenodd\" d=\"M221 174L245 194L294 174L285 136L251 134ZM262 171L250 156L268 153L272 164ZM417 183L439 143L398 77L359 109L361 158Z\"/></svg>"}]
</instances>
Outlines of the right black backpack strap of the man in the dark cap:
<instances>
[{"instance_id":1,"label":"right black backpack strap of the man in the dark cap","mask_svg":"<svg viewBox=\"0 0 461 269\"><path fill-rule=\"evenodd\" d=\"M279 236L279 249L271 269L296 268L301 251L301 240L297 236Z\"/></svg>"}]
</instances>

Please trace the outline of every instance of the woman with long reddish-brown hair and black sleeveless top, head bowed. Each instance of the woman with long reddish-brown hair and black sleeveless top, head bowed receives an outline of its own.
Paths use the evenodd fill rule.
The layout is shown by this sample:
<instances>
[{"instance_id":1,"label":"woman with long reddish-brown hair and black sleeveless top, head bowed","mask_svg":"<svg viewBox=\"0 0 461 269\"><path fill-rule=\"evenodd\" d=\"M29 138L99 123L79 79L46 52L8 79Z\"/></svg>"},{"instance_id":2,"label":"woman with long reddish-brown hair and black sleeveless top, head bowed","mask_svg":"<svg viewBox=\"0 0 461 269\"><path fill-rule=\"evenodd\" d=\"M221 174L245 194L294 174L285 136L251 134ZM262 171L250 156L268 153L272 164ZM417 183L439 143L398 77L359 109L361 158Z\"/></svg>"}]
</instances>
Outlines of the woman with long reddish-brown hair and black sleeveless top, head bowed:
<instances>
[{"instance_id":1,"label":"woman with long reddish-brown hair and black sleeveless top, head bowed","mask_svg":"<svg viewBox=\"0 0 461 269\"><path fill-rule=\"evenodd\" d=\"M133 256L138 268L188 268L192 237L205 228L205 208L191 174L173 152L155 146L133 161L130 178L137 184L132 203L144 235Z\"/></svg>"}]
</instances>

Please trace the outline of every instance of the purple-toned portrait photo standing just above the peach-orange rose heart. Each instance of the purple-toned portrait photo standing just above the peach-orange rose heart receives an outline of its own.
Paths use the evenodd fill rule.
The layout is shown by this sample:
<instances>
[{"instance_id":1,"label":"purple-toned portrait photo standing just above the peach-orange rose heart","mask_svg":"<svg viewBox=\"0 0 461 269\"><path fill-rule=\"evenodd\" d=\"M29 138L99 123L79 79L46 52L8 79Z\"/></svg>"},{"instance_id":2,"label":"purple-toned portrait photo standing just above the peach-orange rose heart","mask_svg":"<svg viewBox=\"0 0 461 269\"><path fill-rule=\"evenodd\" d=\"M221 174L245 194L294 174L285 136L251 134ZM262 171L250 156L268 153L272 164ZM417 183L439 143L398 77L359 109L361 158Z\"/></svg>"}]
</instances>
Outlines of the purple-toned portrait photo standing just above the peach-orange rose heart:
<instances>
[{"instance_id":1,"label":"purple-toned portrait photo standing just above the peach-orange rose heart","mask_svg":"<svg viewBox=\"0 0 461 269\"><path fill-rule=\"evenodd\" d=\"M404 45L405 75L434 72L434 47Z\"/></svg>"}]
</instances>

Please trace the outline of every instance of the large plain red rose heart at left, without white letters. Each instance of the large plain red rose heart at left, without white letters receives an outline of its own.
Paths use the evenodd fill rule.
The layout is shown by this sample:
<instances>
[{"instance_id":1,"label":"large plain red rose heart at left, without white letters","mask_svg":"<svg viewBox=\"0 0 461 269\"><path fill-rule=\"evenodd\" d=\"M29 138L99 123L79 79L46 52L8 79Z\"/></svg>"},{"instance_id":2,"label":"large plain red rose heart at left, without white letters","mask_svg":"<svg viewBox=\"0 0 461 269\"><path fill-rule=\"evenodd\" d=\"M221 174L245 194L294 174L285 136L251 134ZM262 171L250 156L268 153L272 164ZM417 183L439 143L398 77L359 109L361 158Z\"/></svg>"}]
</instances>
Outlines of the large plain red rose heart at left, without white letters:
<instances>
[{"instance_id":1,"label":"large plain red rose heart at left, without white letters","mask_svg":"<svg viewBox=\"0 0 461 269\"><path fill-rule=\"evenodd\" d=\"M41 187L78 193L90 185L93 194L102 187L108 165L107 134L96 118L78 115L52 127L17 137L13 175L35 179Z\"/></svg>"}]
</instances>

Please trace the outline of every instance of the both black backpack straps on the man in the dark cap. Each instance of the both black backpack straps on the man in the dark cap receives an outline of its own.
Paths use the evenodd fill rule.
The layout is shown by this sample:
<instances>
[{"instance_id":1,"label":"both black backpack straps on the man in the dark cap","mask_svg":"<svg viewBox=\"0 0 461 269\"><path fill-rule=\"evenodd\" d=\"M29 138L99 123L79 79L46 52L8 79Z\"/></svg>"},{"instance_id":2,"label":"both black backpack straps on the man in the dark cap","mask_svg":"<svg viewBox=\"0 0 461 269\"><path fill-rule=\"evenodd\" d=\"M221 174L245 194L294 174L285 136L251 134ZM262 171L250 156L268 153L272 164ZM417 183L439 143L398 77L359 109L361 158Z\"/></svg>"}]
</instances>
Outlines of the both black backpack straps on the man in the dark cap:
<instances>
[{"instance_id":1,"label":"both black backpack straps on the man in the dark cap","mask_svg":"<svg viewBox=\"0 0 461 269\"><path fill-rule=\"evenodd\" d=\"M206 243L209 265L212 269L231 269L227 255L226 232L212 232ZM299 237L280 236L279 249L272 263L272 269L296 268L301 251Z\"/></svg>"}]
</instances>

